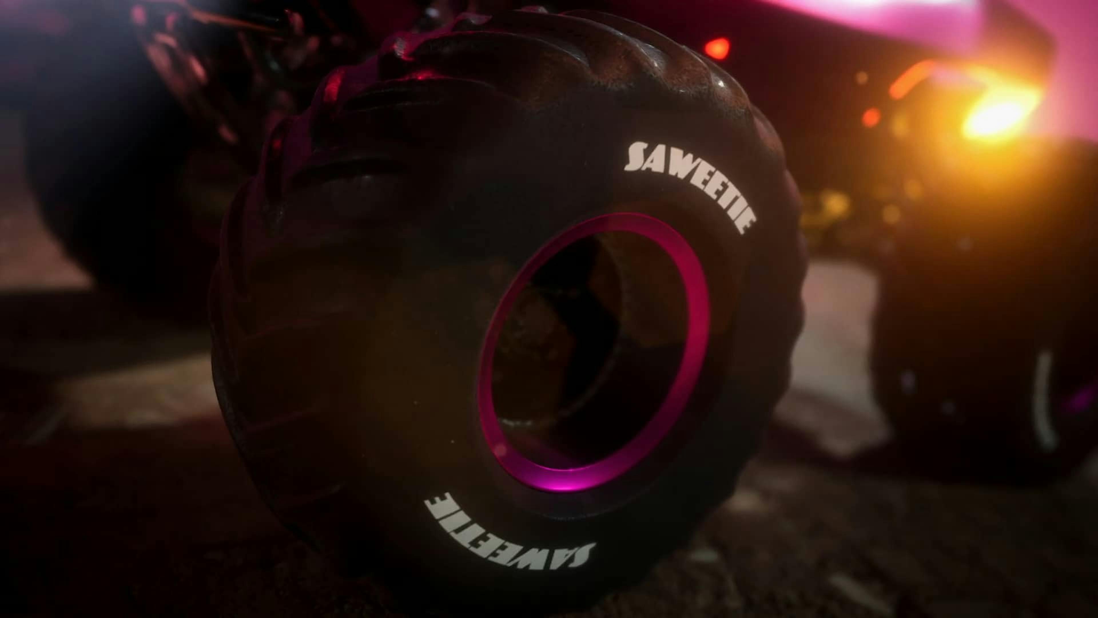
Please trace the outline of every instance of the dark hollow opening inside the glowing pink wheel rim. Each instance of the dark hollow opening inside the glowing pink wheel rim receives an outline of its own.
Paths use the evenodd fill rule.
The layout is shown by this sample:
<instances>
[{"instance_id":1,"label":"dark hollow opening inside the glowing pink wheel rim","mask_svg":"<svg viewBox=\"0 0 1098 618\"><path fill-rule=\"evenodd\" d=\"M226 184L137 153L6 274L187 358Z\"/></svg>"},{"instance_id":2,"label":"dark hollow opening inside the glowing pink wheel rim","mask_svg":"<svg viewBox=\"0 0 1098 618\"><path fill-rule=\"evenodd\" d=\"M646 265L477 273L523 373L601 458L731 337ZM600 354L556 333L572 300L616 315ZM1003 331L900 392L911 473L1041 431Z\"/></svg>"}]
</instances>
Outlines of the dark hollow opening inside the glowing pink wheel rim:
<instances>
[{"instance_id":1,"label":"dark hollow opening inside the glowing pink wheel rim","mask_svg":"<svg viewBox=\"0 0 1098 618\"><path fill-rule=\"evenodd\" d=\"M491 378L509 446L558 470L625 448L682 364L690 311L675 261L641 233L604 231L513 285L522 287L502 316Z\"/></svg>"}]
</instances>

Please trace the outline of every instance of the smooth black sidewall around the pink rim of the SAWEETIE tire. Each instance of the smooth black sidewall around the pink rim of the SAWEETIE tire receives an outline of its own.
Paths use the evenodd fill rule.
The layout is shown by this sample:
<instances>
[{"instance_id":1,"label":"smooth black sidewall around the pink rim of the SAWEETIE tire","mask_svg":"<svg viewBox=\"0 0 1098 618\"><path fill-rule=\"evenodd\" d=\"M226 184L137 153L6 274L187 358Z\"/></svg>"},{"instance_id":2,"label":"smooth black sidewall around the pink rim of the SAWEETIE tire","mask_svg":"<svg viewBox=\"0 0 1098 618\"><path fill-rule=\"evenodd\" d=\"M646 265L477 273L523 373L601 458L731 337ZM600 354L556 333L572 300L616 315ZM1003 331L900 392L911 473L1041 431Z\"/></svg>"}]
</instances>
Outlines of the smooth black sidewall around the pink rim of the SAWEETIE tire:
<instances>
[{"instance_id":1,"label":"smooth black sidewall around the pink rim of the SAWEETIE tire","mask_svg":"<svg viewBox=\"0 0 1098 618\"><path fill-rule=\"evenodd\" d=\"M481 580L507 582L511 591L540 589L550 581L604 588L646 570L731 492L775 390L784 388L770 383L787 377L788 350L783 355L781 344L759 346L773 345L775 336L792 345L799 329L791 288L799 289L802 267L795 218L791 222L785 211L791 190L780 155L760 147L750 114L721 123L717 135L712 115L697 114L709 119L704 122L682 110L623 113L606 95L517 113L524 118L504 124L519 129L486 132L453 156L434 203L403 227L408 242L399 262L406 271L389 289L394 302L363 324L371 334L361 368L370 375L348 390L344 405L350 410L333 419L330 431L341 465L361 471L349 481L351 494L371 519L384 522L380 548L371 549L389 563L426 570L456 586ZM497 119L479 120L500 126ZM705 158L740 188L759 221L740 235L688 180L625 172L635 141ZM545 162L554 164L547 168ZM702 376L681 422L636 468L585 492L538 492L498 465L481 432L481 346L522 264L553 235L615 211L666 222L697 253L714 314ZM774 319L775 307L791 314ZM743 314L748 319L739 319ZM491 563L448 539L425 507L446 494L508 542L550 551L596 547L580 569L531 573Z\"/></svg>"}]
</instances>

